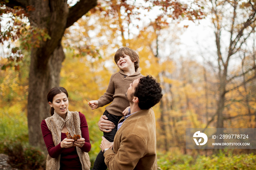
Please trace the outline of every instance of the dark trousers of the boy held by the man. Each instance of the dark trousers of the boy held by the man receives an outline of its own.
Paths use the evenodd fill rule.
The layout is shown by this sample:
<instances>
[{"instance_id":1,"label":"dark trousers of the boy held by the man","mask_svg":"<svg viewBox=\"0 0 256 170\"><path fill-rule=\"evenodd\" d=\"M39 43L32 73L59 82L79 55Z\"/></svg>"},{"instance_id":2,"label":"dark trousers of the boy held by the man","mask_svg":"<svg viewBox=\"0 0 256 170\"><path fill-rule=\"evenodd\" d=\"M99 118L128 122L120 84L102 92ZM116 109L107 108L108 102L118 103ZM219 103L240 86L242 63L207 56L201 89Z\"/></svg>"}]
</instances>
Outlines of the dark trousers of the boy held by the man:
<instances>
[{"instance_id":1,"label":"dark trousers of the boy held by the man","mask_svg":"<svg viewBox=\"0 0 256 170\"><path fill-rule=\"evenodd\" d=\"M111 132L109 132L109 133L103 132L103 136L109 142L113 142L114 141L114 136L116 135L116 132L117 132L118 121L123 116L115 116L115 115L109 114L108 111L105 111L103 113L103 115L106 115L108 117L108 120L112 121L116 125L116 127L114 129L112 129ZM105 157L103 156L103 152L99 151L99 153L98 153L98 155L97 155L97 157L95 159L95 162L94 162L92 170L106 170L108 167L106 166L106 164L104 162L104 159L105 159Z\"/></svg>"}]
</instances>

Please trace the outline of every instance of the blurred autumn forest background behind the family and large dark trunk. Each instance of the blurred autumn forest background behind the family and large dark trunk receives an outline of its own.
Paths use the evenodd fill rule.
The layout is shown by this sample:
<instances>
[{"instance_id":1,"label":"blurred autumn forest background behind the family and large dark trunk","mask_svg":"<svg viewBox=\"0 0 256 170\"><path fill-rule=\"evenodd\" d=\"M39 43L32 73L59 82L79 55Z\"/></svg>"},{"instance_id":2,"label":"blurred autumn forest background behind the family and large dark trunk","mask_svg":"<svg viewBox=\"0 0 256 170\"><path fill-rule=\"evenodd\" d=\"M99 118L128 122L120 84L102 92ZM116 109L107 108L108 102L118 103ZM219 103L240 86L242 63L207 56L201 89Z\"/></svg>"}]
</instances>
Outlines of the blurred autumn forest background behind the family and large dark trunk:
<instances>
[{"instance_id":1,"label":"blurred autumn forest background behind the family and large dark trunk","mask_svg":"<svg viewBox=\"0 0 256 170\"><path fill-rule=\"evenodd\" d=\"M31 49L51 37L29 24L26 16L3 14L6 2L1 1L0 20L0 151L12 152L13 157L20 146L19 155L33 155L26 152L33 146L46 153L29 137L28 96ZM114 53L128 46L139 54L139 71L152 75L163 89L163 98L154 107L159 169L255 169L255 150L216 154L186 149L185 129L256 127L256 1L196 0L166 6L178 2L182 1L97 1L65 30L59 85L69 92L69 110L86 116L91 162L100 150L97 123L105 107L91 111L86 99L97 100L105 92L110 76L118 71ZM70 7L75 3L68 1ZM19 24L8 26L12 22ZM13 33L17 28L20 35ZM188 33L192 28L202 31ZM34 106L45 102L33 100Z\"/></svg>"}]
</instances>

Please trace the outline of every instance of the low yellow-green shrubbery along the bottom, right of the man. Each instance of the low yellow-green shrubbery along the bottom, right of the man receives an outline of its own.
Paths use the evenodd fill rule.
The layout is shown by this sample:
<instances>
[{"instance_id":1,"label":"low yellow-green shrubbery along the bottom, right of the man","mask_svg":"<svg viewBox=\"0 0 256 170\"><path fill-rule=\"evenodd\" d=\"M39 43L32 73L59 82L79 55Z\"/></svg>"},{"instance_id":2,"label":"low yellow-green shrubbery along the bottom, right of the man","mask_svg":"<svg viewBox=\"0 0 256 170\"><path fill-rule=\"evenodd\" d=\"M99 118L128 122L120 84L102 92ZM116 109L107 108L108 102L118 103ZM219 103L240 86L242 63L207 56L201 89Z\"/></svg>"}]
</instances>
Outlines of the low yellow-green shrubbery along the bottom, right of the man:
<instances>
[{"instance_id":1,"label":"low yellow-green shrubbery along the bottom, right of the man","mask_svg":"<svg viewBox=\"0 0 256 170\"><path fill-rule=\"evenodd\" d=\"M196 158L176 152L158 155L160 170L255 170L255 161L254 154L232 154L229 151Z\"/></svg>"}]
</instances>

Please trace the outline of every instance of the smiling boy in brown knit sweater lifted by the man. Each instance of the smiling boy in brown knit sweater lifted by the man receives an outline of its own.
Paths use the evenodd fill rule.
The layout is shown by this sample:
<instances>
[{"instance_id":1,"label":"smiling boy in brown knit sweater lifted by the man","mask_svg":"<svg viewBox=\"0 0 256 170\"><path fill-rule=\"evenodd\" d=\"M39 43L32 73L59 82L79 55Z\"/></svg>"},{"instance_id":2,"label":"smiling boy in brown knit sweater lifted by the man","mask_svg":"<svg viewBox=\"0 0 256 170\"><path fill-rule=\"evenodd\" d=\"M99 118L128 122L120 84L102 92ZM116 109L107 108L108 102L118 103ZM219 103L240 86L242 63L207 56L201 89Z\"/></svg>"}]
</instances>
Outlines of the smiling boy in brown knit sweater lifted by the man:
<instances>
[{"instance_id":1,"label":"smiling boy in brown knit sweater lifted by the man","mask_svg":"<svg viewBox=\"0 0 256 170\"><path fill-rule=\"evenodd\" d=\"M129 88L129 85L140 77L142 74L138 71L139 68L139 56L138 54L129 49L128 47L122 47L116 51L114 56L119 72L112 74L109 80L109 85L106 93L103 94L98 100L89 101L91 109L103 107L109 103L105 109L103 115L108 117L109 121L112 121L116 127L110 132L103 132L103 136L110 142L114 141L114 136L117 132L118 121L123 116L122 112L129 107L129 101L125 97L125 93ZM106 170L107 166L104 162L103 152L99 151L97 158L94 162L92 170Z\"/></svg>"}]
</instances>

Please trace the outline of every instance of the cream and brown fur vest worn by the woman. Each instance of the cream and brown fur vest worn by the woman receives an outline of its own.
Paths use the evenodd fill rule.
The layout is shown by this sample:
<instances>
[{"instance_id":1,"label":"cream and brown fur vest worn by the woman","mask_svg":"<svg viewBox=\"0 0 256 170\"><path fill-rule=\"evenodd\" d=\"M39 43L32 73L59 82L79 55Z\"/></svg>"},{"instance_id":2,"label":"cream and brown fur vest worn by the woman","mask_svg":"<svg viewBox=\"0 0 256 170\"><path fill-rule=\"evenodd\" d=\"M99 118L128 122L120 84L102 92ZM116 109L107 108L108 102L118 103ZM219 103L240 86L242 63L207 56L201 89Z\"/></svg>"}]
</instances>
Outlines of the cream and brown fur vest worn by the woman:
<instances>
[{"instance_id":1,"label":"cream and brown fur vest worn by the woman","mask_svg":"<svg viewBox=\"0 0 256 170\"><path fill-rule=\"evenodd\" d=\"M55 111L53 116L45 119L45 122L52 132L52 138L54 145L58 145L61 142L61 130L66 124L68 131L71 136L80 135L82 136L80 129L80 117L78 112L67 112L66 119L64 120ZM90 159L87 152L83 152L79 147L76 147L76 151L82 163L83 170L90 170ZM60 169L60 155L58 158L52 158L50 155L46 159L46 170L59 170Z\"/></svg>"}]
</instances>

